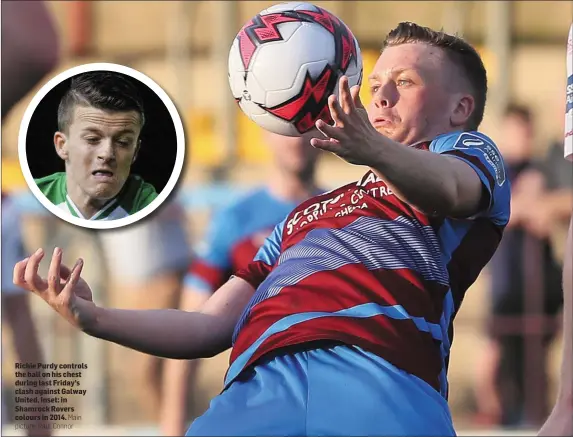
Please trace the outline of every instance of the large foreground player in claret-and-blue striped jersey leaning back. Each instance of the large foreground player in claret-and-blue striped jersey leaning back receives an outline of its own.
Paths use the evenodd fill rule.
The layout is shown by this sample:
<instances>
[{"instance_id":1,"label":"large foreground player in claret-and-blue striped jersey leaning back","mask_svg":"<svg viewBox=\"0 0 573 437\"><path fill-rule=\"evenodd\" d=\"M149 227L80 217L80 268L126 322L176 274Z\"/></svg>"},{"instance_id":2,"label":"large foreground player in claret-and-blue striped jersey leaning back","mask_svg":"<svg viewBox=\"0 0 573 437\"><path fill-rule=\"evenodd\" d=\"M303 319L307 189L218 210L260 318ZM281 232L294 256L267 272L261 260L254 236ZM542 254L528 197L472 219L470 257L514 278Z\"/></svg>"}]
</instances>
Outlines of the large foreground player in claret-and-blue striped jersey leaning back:
<instances>
[{"instance_id":1,"label":"large foreground player in claret-and-blue striped jersey leaning back","mask_svg":"<svg viewBox=\"0 0 573 437\"><path fill-rule=\"evenodd\" d=\"M509 216L502 158L476 132L486 71L463 40L401 23L358 87L340 80L314 147L370 169L275 227L201 310L97 306L83 261L39 249L16 284L94 337L193 359L231 345L225 388L188 435L454 435L452 322Z\"/></svg>"}]
</instances>

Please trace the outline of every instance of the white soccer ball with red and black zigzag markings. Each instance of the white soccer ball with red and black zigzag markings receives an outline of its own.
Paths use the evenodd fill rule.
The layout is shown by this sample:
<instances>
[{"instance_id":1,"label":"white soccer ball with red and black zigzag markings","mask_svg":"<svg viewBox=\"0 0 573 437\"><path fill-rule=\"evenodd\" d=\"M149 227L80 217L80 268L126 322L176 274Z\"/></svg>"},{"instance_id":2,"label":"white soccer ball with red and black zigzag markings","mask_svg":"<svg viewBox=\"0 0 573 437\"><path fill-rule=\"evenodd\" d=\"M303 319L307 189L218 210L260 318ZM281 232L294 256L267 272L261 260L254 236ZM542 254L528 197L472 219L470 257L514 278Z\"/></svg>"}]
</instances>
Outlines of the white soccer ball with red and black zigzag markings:
<instances>
[{"instance_id":1,"label":"white soccer ball with red and black zigzag markings","mask_svg":"<svg viewBox=\"0 0 573 437\"><path fill-rule=\"evenodd\" d=\"M332 121L328 97L346 75L362 82L360 47L350 29L309 3L283 3L250 20L229 53L229 84L243 112L271 132L300 136Z\"/></svg>"}]
</instances>

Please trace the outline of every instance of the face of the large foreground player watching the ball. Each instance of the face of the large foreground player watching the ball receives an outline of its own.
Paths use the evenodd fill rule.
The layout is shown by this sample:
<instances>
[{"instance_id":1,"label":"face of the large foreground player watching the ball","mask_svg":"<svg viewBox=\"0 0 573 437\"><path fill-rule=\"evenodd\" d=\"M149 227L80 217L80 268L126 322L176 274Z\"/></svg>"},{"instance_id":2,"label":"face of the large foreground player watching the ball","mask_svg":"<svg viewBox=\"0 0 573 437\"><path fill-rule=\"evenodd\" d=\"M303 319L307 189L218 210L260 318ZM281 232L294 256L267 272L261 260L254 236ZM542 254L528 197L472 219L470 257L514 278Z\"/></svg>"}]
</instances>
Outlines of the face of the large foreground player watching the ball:
<instances>
[{"instance_id":1,"label":"face of the large foreground player watching the ball","mask_svg":"<svg viewBox=\"0 0 573 437\"><path fill-rule=\"evenodd\" d=\"M368 78L370 122L406 145L461 129L474 101L460 92L460 75L440 48L423 43L386 48Z\"/></svg>"}]
</instances>

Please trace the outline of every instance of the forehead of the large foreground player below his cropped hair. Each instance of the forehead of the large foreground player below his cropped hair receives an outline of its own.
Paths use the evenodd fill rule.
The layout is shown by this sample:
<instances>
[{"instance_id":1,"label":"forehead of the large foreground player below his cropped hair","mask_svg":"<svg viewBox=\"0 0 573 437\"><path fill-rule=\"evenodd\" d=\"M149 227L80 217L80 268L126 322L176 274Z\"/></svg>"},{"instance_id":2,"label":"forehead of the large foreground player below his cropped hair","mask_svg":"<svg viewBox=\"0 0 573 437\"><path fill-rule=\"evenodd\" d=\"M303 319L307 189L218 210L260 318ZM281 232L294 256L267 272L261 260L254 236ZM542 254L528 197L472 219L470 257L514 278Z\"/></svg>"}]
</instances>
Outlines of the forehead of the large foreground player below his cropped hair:
<instances>
[{"instance_id":1,"label":"forehead of the large foreground player below his cropped hair","mask_svg":"<svg viewBox=\"0 0 573 437\"><path fill-rule=\"evenodd\" d=\"M378 57L369 79L393 77L402 71L420 76L436 75L446 68L446 56L439 47L425 43L406 43L387 47Z\"/></svg>"}]
</instances>

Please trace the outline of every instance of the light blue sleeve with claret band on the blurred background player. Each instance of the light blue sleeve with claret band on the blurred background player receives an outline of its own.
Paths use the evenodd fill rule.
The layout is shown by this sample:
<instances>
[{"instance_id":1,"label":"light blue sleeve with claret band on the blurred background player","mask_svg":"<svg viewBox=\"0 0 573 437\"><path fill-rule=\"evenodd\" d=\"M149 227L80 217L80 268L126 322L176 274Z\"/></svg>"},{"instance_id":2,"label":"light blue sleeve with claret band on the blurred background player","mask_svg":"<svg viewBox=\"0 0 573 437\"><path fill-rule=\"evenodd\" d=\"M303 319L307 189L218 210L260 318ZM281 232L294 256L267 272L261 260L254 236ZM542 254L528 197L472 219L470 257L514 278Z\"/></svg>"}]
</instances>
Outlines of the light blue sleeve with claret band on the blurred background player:
<instances>
[{"instance_id":1,"label":"light blue sleeve with claret band on the blurred background player","mask_svg":"<svg viewBox=\"0 0 573 437\"><path fill-rule=\"evenodd\" d=\"M227 209L215 214L196 257L185 275L184 285L194 291L212 293L231 274L231 249L237 234L236 219Z\"/></svg>"}]
</instances>

